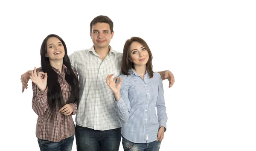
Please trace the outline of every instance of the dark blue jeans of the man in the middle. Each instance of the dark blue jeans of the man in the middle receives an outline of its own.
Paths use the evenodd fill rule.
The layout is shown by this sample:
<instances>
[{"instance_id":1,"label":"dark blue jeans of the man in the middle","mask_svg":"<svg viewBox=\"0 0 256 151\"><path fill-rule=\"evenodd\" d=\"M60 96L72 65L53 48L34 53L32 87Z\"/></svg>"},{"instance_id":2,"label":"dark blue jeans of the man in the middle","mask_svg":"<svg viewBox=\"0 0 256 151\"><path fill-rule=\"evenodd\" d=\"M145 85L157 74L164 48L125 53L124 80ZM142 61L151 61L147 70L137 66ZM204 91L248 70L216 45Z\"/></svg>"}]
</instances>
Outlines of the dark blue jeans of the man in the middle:
<instances>
[{"instance_id":1,"label":"dark blue jeans of the man in the middle","mask_svg":"<svg viewBox=\"0 0 256 151\"><path fill-rule=\"evenodd\" d=\"M77 151L118 151L121 128L98 131L76 125Z\"/></svg>"}]
</instances>

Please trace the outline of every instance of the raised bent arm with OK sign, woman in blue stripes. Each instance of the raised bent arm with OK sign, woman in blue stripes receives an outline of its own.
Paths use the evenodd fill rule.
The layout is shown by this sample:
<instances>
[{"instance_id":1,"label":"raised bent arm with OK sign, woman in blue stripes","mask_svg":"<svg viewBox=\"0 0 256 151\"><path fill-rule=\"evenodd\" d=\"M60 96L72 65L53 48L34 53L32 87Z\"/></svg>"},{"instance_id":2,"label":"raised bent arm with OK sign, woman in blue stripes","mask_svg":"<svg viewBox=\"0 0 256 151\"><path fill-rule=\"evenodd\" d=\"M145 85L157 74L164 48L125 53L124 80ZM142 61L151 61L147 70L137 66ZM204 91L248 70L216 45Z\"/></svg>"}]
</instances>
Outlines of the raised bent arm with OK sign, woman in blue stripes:
<instances>
[{"instance_id":1,"label":"raised bent arm with OK sign, woman in blue stripes","mask_svg":"<svg viewBox=\"0 0 256 151\"><path fill-rule=\"evenodd\" d=\"M107 84L111 88L115 96L116 113L122 122L127 122L130 117L131 105L128 99L128 88L122 83L121 77L115 77L111 80L112 75L107 76ZM116 83L116 79L119 82Z\"/></svg>"}]
</instances>

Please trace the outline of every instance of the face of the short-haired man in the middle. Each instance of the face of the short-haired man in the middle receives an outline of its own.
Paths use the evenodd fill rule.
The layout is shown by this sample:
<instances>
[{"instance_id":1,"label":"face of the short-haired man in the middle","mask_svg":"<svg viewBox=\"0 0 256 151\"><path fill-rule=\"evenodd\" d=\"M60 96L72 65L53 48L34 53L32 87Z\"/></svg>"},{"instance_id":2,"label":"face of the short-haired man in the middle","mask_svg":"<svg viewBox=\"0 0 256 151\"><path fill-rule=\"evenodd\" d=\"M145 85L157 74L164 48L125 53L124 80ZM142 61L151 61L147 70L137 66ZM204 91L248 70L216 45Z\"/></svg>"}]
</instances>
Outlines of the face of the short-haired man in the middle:
<instances>
[{"instance_id":1,"label":"face of the short-haired man in the middle","mask_svg":"<svg viewBox=\"0 0 256 151\"><path fill-rule=\"evenodd\" d=\"M96 23L92 26L90 36L96 48L108 48L108 45L113 38L114 32L111 33L108 23Z\"/></svg>"}]
</instances>

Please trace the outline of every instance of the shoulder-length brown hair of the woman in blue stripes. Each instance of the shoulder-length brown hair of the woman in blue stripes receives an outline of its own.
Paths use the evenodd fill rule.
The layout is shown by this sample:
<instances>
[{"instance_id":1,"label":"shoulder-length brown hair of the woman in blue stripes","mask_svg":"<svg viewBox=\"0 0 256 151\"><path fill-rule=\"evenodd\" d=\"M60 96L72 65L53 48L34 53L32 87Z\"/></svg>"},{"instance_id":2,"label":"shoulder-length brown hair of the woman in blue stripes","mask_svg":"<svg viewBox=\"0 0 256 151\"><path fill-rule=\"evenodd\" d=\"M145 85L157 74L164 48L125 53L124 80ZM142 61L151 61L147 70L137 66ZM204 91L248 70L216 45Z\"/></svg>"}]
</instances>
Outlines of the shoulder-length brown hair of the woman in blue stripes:
<instances>
[{"instance_id":1,"label":"shoulder-length brown hair of the woman in blue stripes","mask_svg":"<svg viewBox=\"0 0 256 151\"><path fill-rule=\"evenodd\" d=\"M149 77L152 78L153 77L153 66L152 66L153 56L148 47L148 44L142 38L139 38L139 37L132 37L131 39L128 39L125 42L123 56L122 56L122 65L121 65L122 66L122 74L130 75L131 73L129 73L129 70L131 68L134 69L134 63L131 62L128 58L129 58L130 46L135 41L137 41L138 43L143 45L145 47L145 49L148 51L148 62L146 63L146 71L149 72Z\"/></svg>"}]
</instances>

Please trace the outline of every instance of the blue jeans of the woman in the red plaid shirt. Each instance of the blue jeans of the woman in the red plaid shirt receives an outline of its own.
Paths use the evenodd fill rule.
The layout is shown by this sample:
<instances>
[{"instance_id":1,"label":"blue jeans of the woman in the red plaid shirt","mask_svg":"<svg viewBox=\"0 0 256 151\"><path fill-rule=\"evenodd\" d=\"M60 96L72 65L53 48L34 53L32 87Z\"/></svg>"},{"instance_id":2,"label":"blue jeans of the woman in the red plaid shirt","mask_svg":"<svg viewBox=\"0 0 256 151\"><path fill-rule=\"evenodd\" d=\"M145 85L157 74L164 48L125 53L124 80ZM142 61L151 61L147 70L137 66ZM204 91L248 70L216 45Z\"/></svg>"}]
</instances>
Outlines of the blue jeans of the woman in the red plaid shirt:
<instances>
[{"instance_id":1,"label":"blue jeans of the woman in the red plaid shirt","mask_svg":"<svg viewBox=\"0 0 256 151\"><path fill-rule=\"evenodd\" d=\"M51 142L49 140L38 139L40 151L71 151L74 135L66 139L62 139L60 142Z\"/></svg>"}]
</instances>

